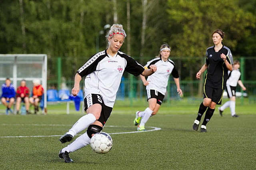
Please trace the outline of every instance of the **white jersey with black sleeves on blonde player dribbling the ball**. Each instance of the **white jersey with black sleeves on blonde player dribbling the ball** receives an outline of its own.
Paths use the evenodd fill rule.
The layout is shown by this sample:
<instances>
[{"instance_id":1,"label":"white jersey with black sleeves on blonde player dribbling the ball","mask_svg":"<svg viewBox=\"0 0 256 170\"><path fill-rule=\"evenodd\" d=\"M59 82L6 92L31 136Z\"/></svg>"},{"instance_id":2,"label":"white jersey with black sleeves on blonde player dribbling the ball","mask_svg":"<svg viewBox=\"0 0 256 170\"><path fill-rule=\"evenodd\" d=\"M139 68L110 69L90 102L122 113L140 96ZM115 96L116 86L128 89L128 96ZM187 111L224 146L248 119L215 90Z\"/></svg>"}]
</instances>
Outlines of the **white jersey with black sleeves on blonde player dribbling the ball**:
<instances>
[{"instance_id":1,"label":"white jersey with black sleeves on blonde player dribbling the ball","mask_svg":"<svg viewBox=\"0 0 256 170\"><path fill-rule=\"evenodd\" d=\"M106 50L93 55L77 73L85 77L84 95L102 95L104 104L113 107L124 71L135 76L140 75L144 68L132 57L118 51L114 57Z\"/></svg>"}]
</instances>

